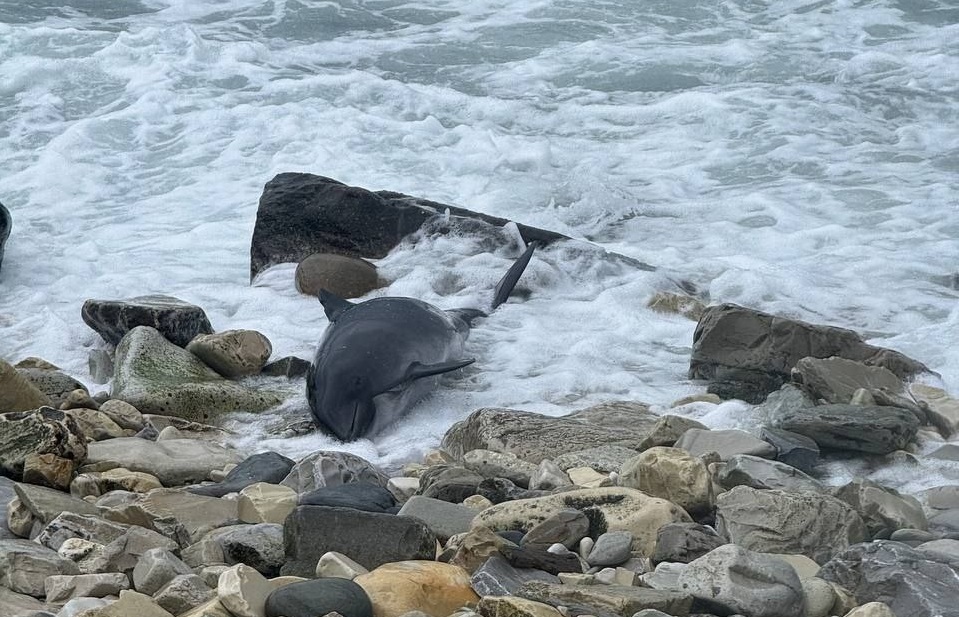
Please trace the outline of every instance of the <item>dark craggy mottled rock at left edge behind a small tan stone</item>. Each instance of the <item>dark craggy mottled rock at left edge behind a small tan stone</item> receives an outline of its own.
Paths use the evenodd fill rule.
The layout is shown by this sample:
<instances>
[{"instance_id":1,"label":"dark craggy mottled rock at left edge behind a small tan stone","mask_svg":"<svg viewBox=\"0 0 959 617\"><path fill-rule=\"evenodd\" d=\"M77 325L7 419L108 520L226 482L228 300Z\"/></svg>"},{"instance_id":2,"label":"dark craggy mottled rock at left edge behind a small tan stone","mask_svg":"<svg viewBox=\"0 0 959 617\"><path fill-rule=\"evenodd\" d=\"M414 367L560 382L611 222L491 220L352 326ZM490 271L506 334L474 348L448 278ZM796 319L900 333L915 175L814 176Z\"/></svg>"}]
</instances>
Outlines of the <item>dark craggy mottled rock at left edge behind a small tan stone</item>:
<instances>
[{"instance_id":1,"label":"dark craggy mottled rock at left edge behind a small tan stone","mask_svg":"<svg viewBox=\"0 0 959 617\"><path fill-rule=\"evenodd\" d=\"M73 418L50 407L0 414L0 473L23 479L27 458L47 454L70 461L68 476L86 458L86 437Z\"/></svg>"}]
</instances>

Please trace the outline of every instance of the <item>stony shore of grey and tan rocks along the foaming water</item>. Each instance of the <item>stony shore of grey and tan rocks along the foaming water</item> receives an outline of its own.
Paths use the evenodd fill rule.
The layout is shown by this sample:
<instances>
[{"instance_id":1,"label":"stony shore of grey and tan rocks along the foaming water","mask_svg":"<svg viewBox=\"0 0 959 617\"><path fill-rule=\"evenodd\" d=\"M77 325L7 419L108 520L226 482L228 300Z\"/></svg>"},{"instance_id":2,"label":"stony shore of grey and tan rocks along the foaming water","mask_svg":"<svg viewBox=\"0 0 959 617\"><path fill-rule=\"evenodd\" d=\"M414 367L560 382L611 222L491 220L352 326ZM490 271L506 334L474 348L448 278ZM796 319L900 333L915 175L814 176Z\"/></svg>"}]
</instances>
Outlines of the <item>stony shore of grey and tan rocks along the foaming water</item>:
<instances>
[{"instance_id":1,"label":"stony shore of grey and tan rocks along the foaming water","mask_svg":"<svg viewBox=\"0 0 959 617\"><path fill-rule=\"evenodd\" d=\"M336 208L412 207L284 176ZM284 250L315 252L301 243ZM254 274L284 259L253 253ZM271 362L262 334L213 332L176 298L90 300L84 321L115 345L90 357L109 393L0 361L0 615L959 616L959 484L822 477L837 457L959 462L954 444L917 447L959 431L959 401L916 380L929 369L849 330L678 293L650 307L698 320L701 395L478 409L387 473L228 445L224 414L301 396L304 362ZM754 405L750 431L691 417L724 399Z\"/></svg>"}]
</instances>

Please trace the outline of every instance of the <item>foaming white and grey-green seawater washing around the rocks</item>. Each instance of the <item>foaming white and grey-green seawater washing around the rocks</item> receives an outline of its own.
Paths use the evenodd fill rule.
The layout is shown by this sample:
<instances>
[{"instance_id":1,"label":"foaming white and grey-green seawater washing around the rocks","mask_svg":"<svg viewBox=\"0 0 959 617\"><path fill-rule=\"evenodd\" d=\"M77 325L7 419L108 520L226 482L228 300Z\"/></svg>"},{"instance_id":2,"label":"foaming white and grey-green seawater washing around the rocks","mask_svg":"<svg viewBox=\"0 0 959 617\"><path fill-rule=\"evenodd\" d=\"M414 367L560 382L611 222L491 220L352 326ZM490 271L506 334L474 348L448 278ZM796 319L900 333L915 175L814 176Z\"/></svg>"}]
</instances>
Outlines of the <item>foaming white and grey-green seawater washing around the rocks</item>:
<instances>
[{"instance_id":1,"label":"foaming white and grey-green seawater washing around the rocks","mask_svg":"<svg viewBox=\"0 0 959 617\"><path fill-rule=\"evenodd\" d=\"M537 252L473 330L476 363L394 430L278 437L299 382L232 420L243 447L389 466L483 406L664 410L705 390L695 324L646 308L677 281L853 328L959 394L957 24L953 0L0 0L0 357L107 388L81 304L163 293L309 359L327 322L294 265L249 282L263 185L306 171L583 242ZM423 234L376 293L483 306L517 254L486 248ZM756 428L738 402L685 412ZM863 473L959 482L954 463Z\"/></svg>"}]
</instances>

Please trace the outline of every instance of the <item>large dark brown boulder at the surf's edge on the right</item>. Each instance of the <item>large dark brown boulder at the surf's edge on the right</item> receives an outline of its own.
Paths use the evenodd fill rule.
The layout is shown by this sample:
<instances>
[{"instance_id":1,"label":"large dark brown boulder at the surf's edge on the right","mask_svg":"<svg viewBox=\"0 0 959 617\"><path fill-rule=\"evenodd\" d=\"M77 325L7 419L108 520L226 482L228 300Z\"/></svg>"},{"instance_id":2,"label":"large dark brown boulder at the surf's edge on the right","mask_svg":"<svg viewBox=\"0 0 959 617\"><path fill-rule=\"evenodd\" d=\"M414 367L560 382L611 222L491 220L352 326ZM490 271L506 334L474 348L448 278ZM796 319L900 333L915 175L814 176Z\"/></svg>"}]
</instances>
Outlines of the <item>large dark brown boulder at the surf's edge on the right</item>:
<instances>
[{"instance_id":1,"label":"large dark brown boulder at the surf's edge on the right","mask_svg":"<svg viewBox=\"0 0 959 617\"><path fill-rule=\"evenodd\" d=\"M803 358L838 356L889 369L900 379L930 372L898 351L863 342L852 330L806 323L737 306L710 306L693 334L689 377L724 398L761 403Z\"/></svg>"}]
</instances>

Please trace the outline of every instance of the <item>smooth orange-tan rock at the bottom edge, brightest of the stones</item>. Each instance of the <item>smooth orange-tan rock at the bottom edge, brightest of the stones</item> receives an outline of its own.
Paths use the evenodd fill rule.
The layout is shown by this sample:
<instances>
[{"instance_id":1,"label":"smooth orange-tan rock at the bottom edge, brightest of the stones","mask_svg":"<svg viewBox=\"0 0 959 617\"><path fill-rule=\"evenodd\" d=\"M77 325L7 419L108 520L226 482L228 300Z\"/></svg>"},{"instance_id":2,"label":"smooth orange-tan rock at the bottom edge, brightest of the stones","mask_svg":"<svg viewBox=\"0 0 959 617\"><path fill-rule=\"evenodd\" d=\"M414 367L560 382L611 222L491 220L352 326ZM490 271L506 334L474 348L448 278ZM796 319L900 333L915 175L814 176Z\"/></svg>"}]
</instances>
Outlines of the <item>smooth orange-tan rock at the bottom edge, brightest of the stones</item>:
<instances>
[{"instance_id":1,"label":"smooth orange-tan rock at the bottom edge, brightest of the stones","mask_svg":"<svg viewBox=\"0 0 959 617\"><path fill-rule=\"evenodd\" d=\"M388 563L354 581L369 595L374 617L400 617L412 610L447 617L479 601L466 570L438 561Z\"/></svg>"}]
</instances>

